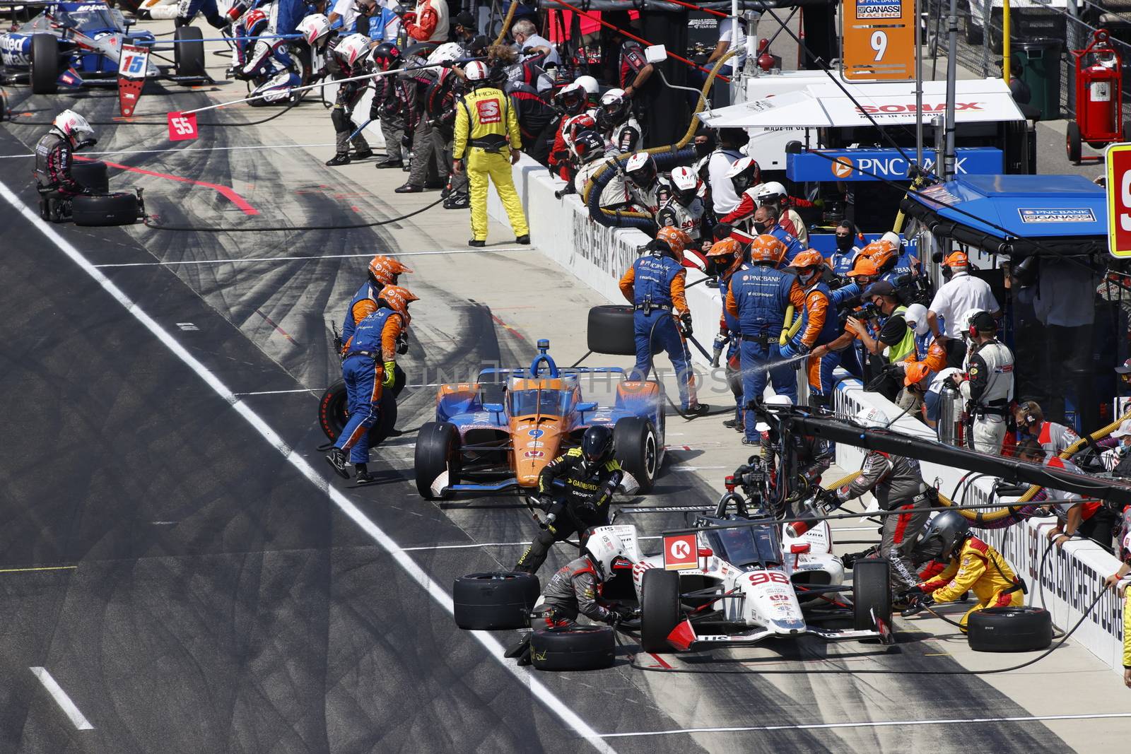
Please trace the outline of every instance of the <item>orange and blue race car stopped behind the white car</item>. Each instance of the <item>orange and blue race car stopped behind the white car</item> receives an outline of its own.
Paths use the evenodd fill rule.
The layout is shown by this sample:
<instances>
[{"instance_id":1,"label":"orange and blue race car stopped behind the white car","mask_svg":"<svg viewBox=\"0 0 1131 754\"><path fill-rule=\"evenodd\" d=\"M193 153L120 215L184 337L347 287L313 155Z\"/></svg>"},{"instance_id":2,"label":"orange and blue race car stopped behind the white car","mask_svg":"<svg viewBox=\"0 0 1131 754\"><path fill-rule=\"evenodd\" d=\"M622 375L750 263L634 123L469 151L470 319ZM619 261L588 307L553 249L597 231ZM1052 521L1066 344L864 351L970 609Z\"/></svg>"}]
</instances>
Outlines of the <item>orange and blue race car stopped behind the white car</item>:
<instances>
[{"instance_id":1,"label":"orange and blue race car stopped behind the white car","mask_svg":"<svg viewBox=\"0 0 1131 754\"><path fill-rule=\"evenodd\" d=\"M486 369L476 382L442 384L435 421L416 436L416 489L426 500L460 492L530 491L546 463L581 444L587 427L613 427L631 487L651 488L664 460L664 388L619 367L559 367L538 340L528 369ZM608 407L586 401L586 375L615 383Z\"/></svg>"}]
</instances>

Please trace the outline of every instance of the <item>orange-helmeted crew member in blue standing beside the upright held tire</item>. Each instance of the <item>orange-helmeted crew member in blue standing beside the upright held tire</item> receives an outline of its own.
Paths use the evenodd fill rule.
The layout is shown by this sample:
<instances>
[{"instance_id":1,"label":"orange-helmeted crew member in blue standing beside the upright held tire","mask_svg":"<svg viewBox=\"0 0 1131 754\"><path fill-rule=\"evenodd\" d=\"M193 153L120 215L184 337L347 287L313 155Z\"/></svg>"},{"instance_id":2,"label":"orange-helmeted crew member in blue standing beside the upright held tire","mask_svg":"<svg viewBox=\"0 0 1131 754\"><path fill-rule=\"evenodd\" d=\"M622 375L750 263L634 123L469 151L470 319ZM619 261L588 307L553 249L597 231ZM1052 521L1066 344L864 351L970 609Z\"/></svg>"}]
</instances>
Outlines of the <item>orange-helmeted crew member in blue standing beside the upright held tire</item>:
<instances>
[{"instance_id":1,"label":"orange-helmeted crew member in blue standing beside the upright held tire","mask_svg":"<svg viewBox=\"0 0 1131 754\"><path fill-rule=\"evenodd\" d=\"M646 380L651 371L654 347L663 348L675 367L683 413L698 416L708 407L696 398L691 355L683 340L691 335L691 310L683 294L688 274L682 263L683 249L690 243L691 236L680 228L659 228L646 253L632 262L621 278L621 293L636 310L632 321L637 363L632 367L632 379Z\"/></svg>"}]
</instances>

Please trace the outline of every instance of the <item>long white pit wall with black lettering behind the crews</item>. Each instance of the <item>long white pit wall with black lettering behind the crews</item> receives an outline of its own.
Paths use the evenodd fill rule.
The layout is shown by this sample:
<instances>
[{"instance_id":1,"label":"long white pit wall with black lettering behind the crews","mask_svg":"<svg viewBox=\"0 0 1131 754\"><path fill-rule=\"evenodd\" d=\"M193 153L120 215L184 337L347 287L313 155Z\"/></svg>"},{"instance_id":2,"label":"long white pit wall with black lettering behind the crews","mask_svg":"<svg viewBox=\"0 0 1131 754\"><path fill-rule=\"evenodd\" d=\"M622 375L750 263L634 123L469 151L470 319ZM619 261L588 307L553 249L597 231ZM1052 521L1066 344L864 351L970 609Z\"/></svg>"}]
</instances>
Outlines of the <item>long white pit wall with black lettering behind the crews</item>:
<instances>
[{"instance_id":1,"label":"long white pit wall with black lettering behind the crews","mask_svg":"<svg viewBox=\"0 0 1131 754\"><path fill-rule=\"evenodd\" d=\"M515 187L530 224L534 249L553 259L611 303L624 303L618 280L637 258L637 250L650 239L640 231L597 225L589 219L577 194L568 194L561 199L554 197L554 192L564 188L564 183L551 177L545 167L526 155L523 155L512 172ZM487 214L503 226L508 225L507 214L493 187L489 192ZM487 241L509 241L509 232L504 237ZM689 284L702 277L697 270L688 270ZM710 348L709 340L717 331L722 311L718 292L703 285L689 287L688 305L691 307L697 336L700 341L706 339L705 345ZM691 348L691 355L699 365L709 364L709 359L696 348ZM835 405L841 415L854 416L866 407L881 408L888 416L900 413L895 404L882 396L864 392L860 381L844 371L838 370L837 374L839 382ZM930 428L906 416L897 419L892 428L934 440L934 433ZM862 459L861 449L837 445L837 465L841 468L860 468ZM960 469L927 461L922 463L922 469L923 478L948 496L955 493L964 476ZM962 486L966 489L965 497L961 491L958 492L959 502L990 502L993 482L992 478L975 478L972 484ZM1046 535L1054 523L1054 518L1030 519L1007 529L979 530L978 536L996 547L1015 572L1025 579L1029 588L1026 604L1047 608L1056 627L1065 631L1076 625L1102 590L1104 578L1114 573L1120 563L1098 545L1085 540L1073 540L1063 549L1052 548L1045 555ZM1123 653L1122 606L1122 598L1107 591L1072 634L1074 641L1087 647L1093 655L1120 674Z\"/></svg>"}]
</instances>

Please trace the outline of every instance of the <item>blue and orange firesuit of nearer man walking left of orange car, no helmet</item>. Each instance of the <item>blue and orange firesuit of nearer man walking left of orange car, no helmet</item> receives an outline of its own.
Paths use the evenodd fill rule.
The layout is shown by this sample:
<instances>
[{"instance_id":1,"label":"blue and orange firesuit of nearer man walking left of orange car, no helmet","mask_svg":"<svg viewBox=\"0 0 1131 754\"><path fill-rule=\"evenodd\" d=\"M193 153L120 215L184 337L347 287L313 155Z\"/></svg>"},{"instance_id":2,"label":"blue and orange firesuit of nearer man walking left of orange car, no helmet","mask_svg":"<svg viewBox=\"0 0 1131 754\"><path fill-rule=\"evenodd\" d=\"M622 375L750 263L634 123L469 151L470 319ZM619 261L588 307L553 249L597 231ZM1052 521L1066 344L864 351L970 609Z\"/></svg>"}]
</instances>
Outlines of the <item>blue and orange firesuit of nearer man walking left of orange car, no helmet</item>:
<instances>
[{"instance_id":1,"label":"blue and orange firesuit of nearer man walking left of orange car, no helmet","mask_svg":"<svg viewBox=\"0 0 1131 754\"><path fill-rule=\"evenodd\" d=\"M353 463L369 460L369 430L379 418L382 381L388 381L386 374L394 369L404 319L399 312L382 306L357 323L345 345L342 376L349 398L349 421L334 447L349 451Z\"/></svg>"}]
</instances>

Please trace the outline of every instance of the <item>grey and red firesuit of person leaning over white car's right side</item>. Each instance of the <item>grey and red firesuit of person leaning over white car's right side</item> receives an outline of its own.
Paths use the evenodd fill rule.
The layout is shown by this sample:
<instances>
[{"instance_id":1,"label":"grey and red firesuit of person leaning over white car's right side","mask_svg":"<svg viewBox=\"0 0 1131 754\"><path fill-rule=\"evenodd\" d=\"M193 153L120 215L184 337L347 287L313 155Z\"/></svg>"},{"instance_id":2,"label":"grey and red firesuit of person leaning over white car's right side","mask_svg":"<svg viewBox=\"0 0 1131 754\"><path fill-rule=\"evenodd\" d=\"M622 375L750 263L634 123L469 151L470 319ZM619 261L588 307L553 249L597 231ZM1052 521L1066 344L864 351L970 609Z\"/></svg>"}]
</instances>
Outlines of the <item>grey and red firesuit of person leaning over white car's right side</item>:
<instances>
[{"instance_id":1,"label":"grey and red firesuit of person leaning over white car's right side","mask_svg":"<svg viewBox=\"0 0 1131 754\"><path fill-rule=\"evenodd\" d=\"M865 492L871 492L884 511L925 509L938 501L934 488L923 482L917 460L874 450L864 456L860 476L837 491L837 499L846 502ZM910 589L918 581L912 551L930 517L925 510L883 517L880 556L890 563L895 592Z\"/></svg>"}]
</instances>

